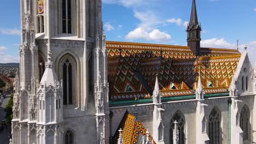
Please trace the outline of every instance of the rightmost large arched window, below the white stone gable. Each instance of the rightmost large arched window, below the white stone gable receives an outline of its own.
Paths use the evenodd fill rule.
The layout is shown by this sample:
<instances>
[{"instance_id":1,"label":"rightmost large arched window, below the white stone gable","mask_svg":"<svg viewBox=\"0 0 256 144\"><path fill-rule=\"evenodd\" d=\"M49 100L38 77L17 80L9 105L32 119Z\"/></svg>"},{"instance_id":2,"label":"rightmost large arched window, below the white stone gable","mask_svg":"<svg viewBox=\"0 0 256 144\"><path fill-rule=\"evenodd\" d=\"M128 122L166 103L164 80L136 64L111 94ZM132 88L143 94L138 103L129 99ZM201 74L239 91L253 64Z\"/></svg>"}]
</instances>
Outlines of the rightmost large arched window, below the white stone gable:
<instances>
[{"instance_id":1,"label":"rightmost large arched window, below the white stone gable","mask_svg":"<svg viewBox=\"0 0 256 144\"><path fill-rule=\"evenodd\" d=\"M243 140L250 139L250 110L247 106L243 106L243 109L240 112L240 128L243 130Z\"/></svg>"}]
</instances>

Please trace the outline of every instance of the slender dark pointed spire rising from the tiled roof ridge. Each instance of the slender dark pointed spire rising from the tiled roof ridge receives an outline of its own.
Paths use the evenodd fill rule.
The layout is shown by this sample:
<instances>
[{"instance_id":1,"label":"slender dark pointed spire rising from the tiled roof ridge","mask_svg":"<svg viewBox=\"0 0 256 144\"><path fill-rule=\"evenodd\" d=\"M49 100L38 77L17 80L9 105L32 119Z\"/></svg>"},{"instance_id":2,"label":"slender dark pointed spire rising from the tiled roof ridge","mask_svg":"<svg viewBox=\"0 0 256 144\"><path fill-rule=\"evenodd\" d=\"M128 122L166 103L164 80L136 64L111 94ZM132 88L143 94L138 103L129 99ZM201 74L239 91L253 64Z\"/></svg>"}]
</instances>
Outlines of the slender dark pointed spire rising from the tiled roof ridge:
<instances>
[{"instance_id":1,"label":"slender dark pointed spire rising from the tiled roof ridge","mask_svg":"<svg viewBox=\"0 0 256 144\"><path fill-rule=\"evenodd\" d=\"M197 19L196 2L195 0L193 0L190 21L187 27L187 42L190 50L196 56L201 55L201 31L201 24L198 22Z\"/></svg>"}]
</instances>

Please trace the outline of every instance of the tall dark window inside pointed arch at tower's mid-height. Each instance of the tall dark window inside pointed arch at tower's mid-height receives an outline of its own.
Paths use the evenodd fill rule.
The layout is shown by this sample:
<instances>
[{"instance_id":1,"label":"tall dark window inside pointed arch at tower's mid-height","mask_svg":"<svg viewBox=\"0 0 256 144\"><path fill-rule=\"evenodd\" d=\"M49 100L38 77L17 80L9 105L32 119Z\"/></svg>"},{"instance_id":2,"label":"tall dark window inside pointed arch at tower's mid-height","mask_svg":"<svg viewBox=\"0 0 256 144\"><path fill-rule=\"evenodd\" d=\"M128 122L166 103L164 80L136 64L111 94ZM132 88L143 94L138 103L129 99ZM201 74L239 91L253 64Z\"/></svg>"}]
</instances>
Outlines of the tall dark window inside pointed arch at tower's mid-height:
<instances>
[{"instance_id":1,"label":"tall dark window inside pointed arch at tower's mid-height","mask_svg":"<svg viewBox=\"0 0 256 144\"><path fill-rule=\"evenodd\" d=\"M63 72L63 104L72 105L72 64L66 59L62 65Z\"/></svg>"}]
</instances>

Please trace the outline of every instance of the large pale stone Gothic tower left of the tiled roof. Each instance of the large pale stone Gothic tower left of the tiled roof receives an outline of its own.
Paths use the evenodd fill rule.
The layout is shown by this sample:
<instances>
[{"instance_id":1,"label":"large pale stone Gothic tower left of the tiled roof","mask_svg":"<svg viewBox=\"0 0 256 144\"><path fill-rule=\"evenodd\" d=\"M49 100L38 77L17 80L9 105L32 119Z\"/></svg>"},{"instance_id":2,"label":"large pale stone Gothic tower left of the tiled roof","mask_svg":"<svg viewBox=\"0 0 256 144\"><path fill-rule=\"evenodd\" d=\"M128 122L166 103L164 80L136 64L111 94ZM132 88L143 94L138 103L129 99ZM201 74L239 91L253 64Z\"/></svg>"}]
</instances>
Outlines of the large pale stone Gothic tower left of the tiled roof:
<instances>
[{"instance_id":1,"label":"large pale stone Gothic tower left of the tiled roof","mask_svg":"<svg viewBox=\"0 0 256 144\"><path fill-rule=\"evenodd\" d=\"M13 143L109 143L101 0L21 0Z\"/></svg>"}]
</instances>

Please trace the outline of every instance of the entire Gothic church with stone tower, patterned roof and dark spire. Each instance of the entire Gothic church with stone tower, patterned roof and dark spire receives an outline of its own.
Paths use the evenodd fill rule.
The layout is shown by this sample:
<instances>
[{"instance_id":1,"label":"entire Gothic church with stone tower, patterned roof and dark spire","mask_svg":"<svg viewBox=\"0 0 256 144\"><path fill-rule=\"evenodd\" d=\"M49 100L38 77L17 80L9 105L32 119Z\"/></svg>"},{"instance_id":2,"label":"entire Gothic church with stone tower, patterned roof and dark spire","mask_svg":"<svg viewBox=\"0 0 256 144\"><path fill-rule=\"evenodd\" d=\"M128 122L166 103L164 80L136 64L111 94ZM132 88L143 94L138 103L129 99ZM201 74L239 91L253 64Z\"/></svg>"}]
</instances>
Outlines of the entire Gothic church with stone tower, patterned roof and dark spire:
<instances>
[{"instance_id":1,"label":"entire Gothic church with stone tower, patterned roof and dark spire","mask_svg":"<svg viewBox=\"0 0 256 144\"><path fill-rule=\"evenodd\" d=\"M256 64L200 46L195 0L188 46L105 41L101 4L21 0L14 144L256 142Z\"/></svg>"}]
</instances>

